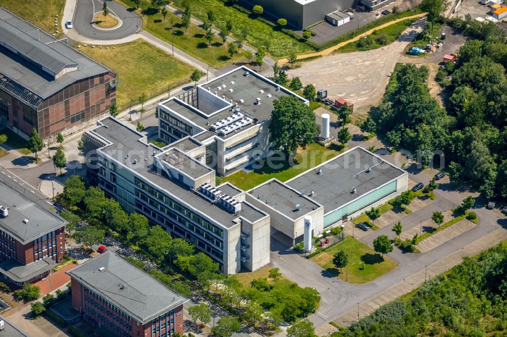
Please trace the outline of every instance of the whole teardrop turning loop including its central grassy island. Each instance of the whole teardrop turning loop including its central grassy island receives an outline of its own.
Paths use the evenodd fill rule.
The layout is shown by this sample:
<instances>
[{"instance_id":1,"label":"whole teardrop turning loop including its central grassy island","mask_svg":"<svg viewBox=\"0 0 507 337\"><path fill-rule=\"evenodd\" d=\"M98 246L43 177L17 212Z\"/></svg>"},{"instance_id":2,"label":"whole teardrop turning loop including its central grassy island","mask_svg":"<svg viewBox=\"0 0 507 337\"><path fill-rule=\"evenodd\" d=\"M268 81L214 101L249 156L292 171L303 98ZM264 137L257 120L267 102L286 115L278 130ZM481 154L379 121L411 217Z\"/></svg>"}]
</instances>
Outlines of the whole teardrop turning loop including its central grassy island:
<instances>
[{"instance_id":1,"label":"whole teardrop turning loop including its central grassy island","mask_svg":"<svg viewBox=\"0 0 507 337\"><path fill-rule=\"evenodd\" d=\"M109 14L102 14L102 0L80 0L72 18L73 29L82 37L94 40L116 40L136 33L142 24L133 9L105 0Z\"/></svg>"}]
</instances>

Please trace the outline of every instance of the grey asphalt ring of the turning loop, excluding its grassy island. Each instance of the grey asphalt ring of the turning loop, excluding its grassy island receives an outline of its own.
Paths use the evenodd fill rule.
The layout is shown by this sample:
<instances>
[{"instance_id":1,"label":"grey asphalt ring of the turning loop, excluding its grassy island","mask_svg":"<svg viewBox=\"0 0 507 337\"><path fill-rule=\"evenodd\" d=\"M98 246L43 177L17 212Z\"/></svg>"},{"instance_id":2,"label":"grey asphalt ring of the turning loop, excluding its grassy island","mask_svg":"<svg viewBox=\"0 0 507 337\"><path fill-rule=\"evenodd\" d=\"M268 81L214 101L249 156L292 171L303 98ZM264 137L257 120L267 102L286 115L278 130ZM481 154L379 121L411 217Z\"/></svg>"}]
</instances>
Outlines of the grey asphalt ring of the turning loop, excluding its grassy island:
<instances>
[{"instance_id":1,"label":"grey asphalt ring of the turning loop, excluding its grassy island","mask_svg":"<svg viewBox=\"0 0 507 337\"><path fill-rule=\"evenodd\" d=\"M115 40L123 38L140 29L142 20L136 13L129 11L127 8L111 0L106 1L110 13L122 21L119 27L103 30L92 24L94 14L102 11L103 1L77 0L73 19L73 29L82 36L97 40Z\"/></svg>"}]
</instances>

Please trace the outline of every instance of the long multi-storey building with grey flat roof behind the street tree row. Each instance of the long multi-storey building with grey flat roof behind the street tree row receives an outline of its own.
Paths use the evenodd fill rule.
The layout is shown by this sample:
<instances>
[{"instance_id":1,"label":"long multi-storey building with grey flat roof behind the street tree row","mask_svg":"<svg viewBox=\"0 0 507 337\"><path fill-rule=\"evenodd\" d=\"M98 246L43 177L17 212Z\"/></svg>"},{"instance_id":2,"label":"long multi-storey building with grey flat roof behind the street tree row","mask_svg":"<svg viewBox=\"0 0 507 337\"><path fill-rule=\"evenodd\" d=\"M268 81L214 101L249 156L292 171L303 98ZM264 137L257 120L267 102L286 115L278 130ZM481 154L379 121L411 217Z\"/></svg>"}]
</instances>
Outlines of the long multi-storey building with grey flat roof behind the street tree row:
<instances>
[{"instance_id":1,"label":"long multi-storey building with grey flat roof behind the street tree row","mask_svg":"<svg viewBox=\"0 0 507 337\"><path fill-rule=\"evenodd\" d=\"M217 262L226 274L269 263L269 215L215 171L185 154L185 140L163 150L113 117L85 133L88 175L127 212L146 216ZM90 152L91 151L91 152Z\"/></svg>"}]
</instances>

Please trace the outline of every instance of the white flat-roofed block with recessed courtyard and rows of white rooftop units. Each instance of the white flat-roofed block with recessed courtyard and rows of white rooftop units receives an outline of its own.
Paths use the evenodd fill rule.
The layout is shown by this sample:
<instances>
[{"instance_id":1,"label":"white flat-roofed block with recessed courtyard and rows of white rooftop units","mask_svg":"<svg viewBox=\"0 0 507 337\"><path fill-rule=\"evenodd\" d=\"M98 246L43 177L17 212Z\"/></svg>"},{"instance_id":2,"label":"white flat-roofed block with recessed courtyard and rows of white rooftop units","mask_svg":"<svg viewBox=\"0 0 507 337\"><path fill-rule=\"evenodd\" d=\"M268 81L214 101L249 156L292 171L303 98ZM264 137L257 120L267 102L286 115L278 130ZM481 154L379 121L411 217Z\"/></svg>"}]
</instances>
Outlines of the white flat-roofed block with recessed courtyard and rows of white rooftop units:
<instances>
[{"instance_id":1,"label":"white flat-roofed block with recessed courtyard and rows of white rooftop units","mask_svg":"<svg viewBox=\"0 0 507 337\"><path fill-rule=\"evenodd\" d=\"M159 138L171 146L185 139L188 155L228 175L268 155L273 101L282 96L309 104L251 69L236 68L159 103Z\"/></svg>"}]
</instances>

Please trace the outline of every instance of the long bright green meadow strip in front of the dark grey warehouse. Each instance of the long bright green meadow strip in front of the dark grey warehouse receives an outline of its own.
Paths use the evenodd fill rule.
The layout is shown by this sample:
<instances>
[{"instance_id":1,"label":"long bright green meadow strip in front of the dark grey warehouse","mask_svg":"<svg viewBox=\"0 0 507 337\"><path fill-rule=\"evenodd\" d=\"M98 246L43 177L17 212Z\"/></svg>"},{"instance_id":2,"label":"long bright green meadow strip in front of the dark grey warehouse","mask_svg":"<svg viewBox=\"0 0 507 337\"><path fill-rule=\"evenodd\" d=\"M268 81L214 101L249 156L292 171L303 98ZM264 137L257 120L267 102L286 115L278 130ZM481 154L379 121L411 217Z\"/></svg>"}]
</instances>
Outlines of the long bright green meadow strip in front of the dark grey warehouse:
<instances>
[{"instance_id":1,"label":"long bright green meadow strip in front of the dark grey warehouse","mask_svg":"<svg viewBox=\"0 0 507 337\"><path fill-rule=\"evenodd\" d=\"M174 5L182 8L183 0L175 0ZM222 0L200 0L192 2L192 15L201 21L207 20L206 13L212 10L216 16L215 26L224 27L227 20L233 24L232 33L241 39L241 29L248 31L246 41L256 48L265 48L274 57L289 55L291 52L303 53L310 47L292 36L273 29L272 26L258 19L252 19L248 14L240 12Z\"/></svg>"}]
</instances>

